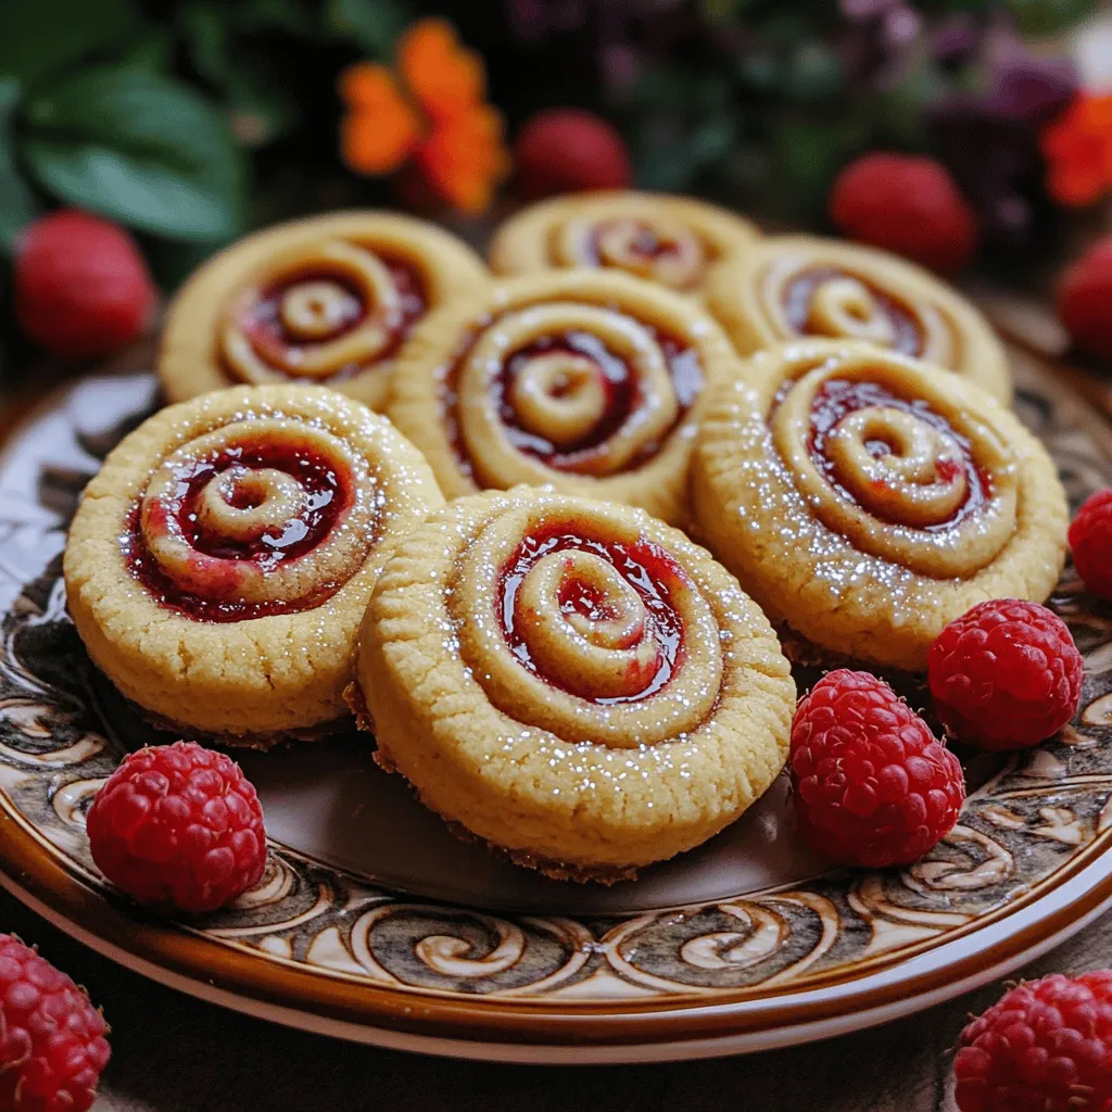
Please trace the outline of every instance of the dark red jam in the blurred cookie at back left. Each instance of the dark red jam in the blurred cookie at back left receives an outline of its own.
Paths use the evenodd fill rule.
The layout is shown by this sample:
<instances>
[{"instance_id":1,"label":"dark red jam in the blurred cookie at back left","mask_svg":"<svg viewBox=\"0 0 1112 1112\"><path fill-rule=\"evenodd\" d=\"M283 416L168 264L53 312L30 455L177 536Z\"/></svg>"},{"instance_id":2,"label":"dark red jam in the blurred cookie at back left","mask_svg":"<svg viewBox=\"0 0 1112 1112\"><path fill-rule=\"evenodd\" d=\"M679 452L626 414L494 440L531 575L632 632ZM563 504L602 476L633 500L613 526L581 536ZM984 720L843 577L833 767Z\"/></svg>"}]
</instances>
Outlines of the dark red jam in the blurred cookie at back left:
<instances>
[{"instance_id":1,"label":"dark red jam in the blurred cookie at back left","mask_svg":"<svg viewBox=\"0 0 1112 1112\"><path fill-rule=\"evenodd\" d=\"M425 315L428 309L428 297L421 276L408 262L400 259L391 259L379 256L384 266L390 272L395 288L400 299L400 309L388 322L390 329L390 344L379 353L376 361L387 359L397 350L401 341L409 335L414 324ZM282 324L281 299L282 295L290 286L304 281L322 280L329 281L346 291L344 312L337 322L336 329L322 341L309 341L302 337L291 335ZM285 370L282 357L291 349L312 347L315 342L328 342L346 336L354 328L367 319L368 306L363 291L346 275L334 274L325 267L306 267L294 278L288 278L282 282L276 282L259 291L259 296L245 310L239 320L240 329L247 337L255 354L268 366L278 373ZM358 364L348 364L338 367L329 378L349 378L358 374L363 367ZM291 375L291 378L297 376Z\"/></svg>"}]
</instances>

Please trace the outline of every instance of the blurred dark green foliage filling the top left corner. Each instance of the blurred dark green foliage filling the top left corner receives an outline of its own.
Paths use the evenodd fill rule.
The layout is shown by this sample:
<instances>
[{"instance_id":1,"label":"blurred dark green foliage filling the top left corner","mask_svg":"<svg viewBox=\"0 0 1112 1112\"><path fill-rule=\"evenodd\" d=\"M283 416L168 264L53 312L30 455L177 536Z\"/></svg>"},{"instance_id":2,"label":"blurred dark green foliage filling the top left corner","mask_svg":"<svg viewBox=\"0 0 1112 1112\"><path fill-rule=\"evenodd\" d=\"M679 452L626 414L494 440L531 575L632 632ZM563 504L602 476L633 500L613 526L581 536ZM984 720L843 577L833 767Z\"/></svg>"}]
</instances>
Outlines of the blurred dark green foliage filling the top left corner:
<instances>
[{"instance_id":1,"label":"blurred dark green foliage filling the top left corner","mask_svg":"<svg viewBox=\"0 0 1112 1112\"><path fill-rule=\"evenodd\" d=\"M388 56L408 18L403 0L4 0L0 249L51 202L202 245L171 260L240 235L266 210L252 152L306 108L332 121L337 70Z\"/></svg>"}]
</instances>

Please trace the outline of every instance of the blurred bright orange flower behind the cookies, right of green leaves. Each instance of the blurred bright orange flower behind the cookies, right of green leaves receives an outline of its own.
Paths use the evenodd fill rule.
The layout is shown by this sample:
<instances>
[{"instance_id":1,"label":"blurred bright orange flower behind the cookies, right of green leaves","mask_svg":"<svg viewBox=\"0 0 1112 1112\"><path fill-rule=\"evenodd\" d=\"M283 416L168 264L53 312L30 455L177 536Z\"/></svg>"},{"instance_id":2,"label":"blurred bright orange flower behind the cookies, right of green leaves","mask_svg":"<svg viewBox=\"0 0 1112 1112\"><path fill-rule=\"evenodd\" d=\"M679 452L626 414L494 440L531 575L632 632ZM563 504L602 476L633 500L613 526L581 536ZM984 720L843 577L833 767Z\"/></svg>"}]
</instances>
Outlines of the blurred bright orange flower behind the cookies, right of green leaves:
<instances>
[{"instance_id":1,"label":"blurred bright orange flower behind the cookies, right of green leaves","mask_svg":"<svg viewBox=\"0 0 1112 1112\"><path fill-rule=\"evenodd\" d=\"M340 149L353 170L390 173L413 161L464 212L481 212L509 170L503 121L485 101L483 59L450 23L423 19L398 43L394 70L361 62L340 75L348 115Z\"/></svg>"}]
</instances>

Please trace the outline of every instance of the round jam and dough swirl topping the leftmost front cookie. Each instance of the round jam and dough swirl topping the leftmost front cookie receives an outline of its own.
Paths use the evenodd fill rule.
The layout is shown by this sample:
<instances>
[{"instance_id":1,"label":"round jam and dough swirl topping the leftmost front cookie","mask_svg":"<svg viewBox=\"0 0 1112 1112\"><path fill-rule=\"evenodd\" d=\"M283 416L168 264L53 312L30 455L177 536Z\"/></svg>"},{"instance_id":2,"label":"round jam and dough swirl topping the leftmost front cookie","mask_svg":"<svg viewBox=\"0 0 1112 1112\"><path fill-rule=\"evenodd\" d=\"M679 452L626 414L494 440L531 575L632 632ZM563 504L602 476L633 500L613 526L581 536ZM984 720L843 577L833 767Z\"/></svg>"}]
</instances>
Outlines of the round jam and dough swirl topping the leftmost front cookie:
<instances>
[{"instance_id":1,"label":"round jam and dough swirl topping the leftmost front cookie","mask_svg":"<svg viewBox=\"0 0 1112 1112\"><path fill-rule=\"evenodd\" d=\"M256 418L182 445L153 474L122 538L166 607L240 622L319 605L374 542L366 460L311 425Z\"/></svg>"}]
</instances>

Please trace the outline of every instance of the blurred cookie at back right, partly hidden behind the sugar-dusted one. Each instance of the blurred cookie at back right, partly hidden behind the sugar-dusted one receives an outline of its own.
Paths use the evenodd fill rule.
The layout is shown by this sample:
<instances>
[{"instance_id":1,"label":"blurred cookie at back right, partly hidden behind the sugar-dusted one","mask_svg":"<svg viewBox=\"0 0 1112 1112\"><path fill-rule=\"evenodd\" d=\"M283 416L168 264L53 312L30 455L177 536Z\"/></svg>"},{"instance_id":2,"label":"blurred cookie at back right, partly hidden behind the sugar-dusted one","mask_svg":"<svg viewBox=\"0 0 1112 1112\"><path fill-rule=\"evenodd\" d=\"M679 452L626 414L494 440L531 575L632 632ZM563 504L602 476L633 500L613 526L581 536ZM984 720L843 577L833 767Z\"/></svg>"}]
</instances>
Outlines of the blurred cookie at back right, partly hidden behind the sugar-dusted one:
<instances>
[{"instance_id":1,"label":"blurred cookie at back right, partly hidden behind the sugar-dusted one","mask_svg":"<svg viewBox=\"0 0 1112 1112\"><path fill-rule=\"evenodd\" d=\"M884 251L808 236L765 239L715 268L706 302L743 355L807 336L868 340L1012 399L1007 356L984 317Z\"/></svg>"}]
</instances>

